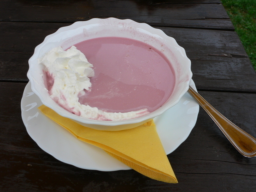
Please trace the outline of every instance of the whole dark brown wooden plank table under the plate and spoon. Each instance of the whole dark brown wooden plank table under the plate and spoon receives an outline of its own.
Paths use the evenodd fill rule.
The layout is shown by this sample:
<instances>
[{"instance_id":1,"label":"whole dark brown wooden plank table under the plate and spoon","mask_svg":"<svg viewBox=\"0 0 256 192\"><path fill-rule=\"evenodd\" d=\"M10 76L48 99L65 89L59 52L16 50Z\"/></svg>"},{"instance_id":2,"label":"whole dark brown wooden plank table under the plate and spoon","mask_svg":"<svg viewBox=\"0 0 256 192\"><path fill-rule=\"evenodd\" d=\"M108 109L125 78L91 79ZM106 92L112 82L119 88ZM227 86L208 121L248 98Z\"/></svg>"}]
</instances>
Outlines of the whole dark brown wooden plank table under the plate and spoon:
<instances>
[{"instance_id":1,"label":"whole dark brown wooden plank table under the plate and spoon","mask_svg":"<svg viewBox=\"0 0 256 192\"><path fill-rule=\"evenodd\" d=\"M168 159L179 183L134 170L101 172L62 163L29 137L20 112L28 59L59 27L130 18L185 48L199 93L256 137L256 73L220 0L2 0L0 7L0 191L255 191L256 158L230 144L200 108L190 136Z\"/></svg>"}]
</instances>

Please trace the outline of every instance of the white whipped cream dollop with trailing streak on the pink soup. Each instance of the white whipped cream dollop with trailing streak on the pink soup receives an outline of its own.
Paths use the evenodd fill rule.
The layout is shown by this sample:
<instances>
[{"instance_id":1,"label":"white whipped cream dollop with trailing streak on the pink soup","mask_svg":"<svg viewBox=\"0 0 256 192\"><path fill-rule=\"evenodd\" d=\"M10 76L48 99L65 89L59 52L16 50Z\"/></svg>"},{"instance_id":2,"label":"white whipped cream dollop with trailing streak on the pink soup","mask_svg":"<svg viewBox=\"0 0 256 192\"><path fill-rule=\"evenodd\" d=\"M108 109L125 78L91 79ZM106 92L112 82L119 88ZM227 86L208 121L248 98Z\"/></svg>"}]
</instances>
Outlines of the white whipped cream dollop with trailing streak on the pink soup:
<instances>
[{"instance_id":1,"label":"white whipped cream dollop with trailing streak on the pink soup","mask_svg":"<svg viewBox=\"0 0 256 192\"><path fill-rule=\"evenodd\" d=\"M64 51L62 47L55 47L39 59L45 71L54 79L48 90L50 97L67 111L94 120L127 120L149 113L146 108L127 113L113 113L80 104L79 97L84 90L91 89L90 78L94 77L93 65L86 56L75 46Z\"/></svg>"}]
</instances>

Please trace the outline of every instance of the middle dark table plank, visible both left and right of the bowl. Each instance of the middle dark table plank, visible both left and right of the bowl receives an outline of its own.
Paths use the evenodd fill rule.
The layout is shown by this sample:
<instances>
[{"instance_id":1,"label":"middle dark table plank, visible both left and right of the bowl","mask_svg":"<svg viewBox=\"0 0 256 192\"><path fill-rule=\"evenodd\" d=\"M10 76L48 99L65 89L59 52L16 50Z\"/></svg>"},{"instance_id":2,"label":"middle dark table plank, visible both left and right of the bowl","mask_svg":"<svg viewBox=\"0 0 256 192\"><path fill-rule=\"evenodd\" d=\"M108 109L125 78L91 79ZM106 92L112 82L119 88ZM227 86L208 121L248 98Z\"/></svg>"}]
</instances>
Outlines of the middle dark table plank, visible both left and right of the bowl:
<instances>
[{"instance_id":1,"label":"middle dark table plank, visible both left and right of the bowl","mask_svg":"<svg viewBox=\"0 0 256 192\"><path fill-rule=\"evenodd\" d=\"M28 81L28 59L45 36L68 23L0 23L0 80ZM256 92L256 73L236 32L158 27L185 48L197 88Z\"/></svg>"}]
</instances>

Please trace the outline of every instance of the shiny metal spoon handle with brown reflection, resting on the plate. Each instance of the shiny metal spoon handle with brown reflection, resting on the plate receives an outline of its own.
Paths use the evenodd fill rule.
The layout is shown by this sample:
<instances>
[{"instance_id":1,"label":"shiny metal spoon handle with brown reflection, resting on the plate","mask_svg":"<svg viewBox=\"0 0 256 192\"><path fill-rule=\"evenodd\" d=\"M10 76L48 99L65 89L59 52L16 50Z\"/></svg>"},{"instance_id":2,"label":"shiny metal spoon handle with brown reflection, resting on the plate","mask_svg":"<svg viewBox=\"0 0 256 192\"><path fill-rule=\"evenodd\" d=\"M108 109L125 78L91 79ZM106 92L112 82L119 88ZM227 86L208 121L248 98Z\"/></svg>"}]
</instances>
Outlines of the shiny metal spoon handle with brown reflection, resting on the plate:
<instances>
[{"instance_id":1,"label":"shiny metal spoon handle with brown reflection, resting on the plate","mask_svg":"<svg viewBox=\"0 0 256 192\"><path fill-rule=\"evenodd\" d=\"M189 86L188 93L210 115L232 145L245 157L256 156L256 139L229 121Z\"/></svg>"}]
</instances>

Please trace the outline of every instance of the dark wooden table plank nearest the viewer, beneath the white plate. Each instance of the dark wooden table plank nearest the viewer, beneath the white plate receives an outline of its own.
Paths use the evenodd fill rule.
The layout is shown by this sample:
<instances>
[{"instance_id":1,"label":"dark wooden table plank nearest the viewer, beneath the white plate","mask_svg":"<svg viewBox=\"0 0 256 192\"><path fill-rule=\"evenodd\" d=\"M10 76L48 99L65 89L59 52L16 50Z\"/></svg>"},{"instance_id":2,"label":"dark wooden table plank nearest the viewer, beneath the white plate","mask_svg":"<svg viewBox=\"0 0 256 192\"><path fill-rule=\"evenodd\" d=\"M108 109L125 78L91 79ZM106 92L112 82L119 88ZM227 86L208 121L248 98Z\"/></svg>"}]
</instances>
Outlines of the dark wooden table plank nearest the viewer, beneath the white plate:
<instances>
[{"instance_id":1,"label":"dark wooden table plank nearest the viewer, beneath the white plate","mask_svg":"<svg viewBox=\"0 0 256 192\"><path fill-rule=\"evenodd\" d=\"M202 108L190 136L168 155L178 184L155 181L134 170L100 172L62 163L41 150L27 134L20 117L20 98L25 85L0 83L0 104L3 106L0 112L0 191L254 190L256 159L240 155ZM256 105L255 94L199 93L231 121L256 137L256 109L251 108Z\"/></svg>"}]
</instances>

